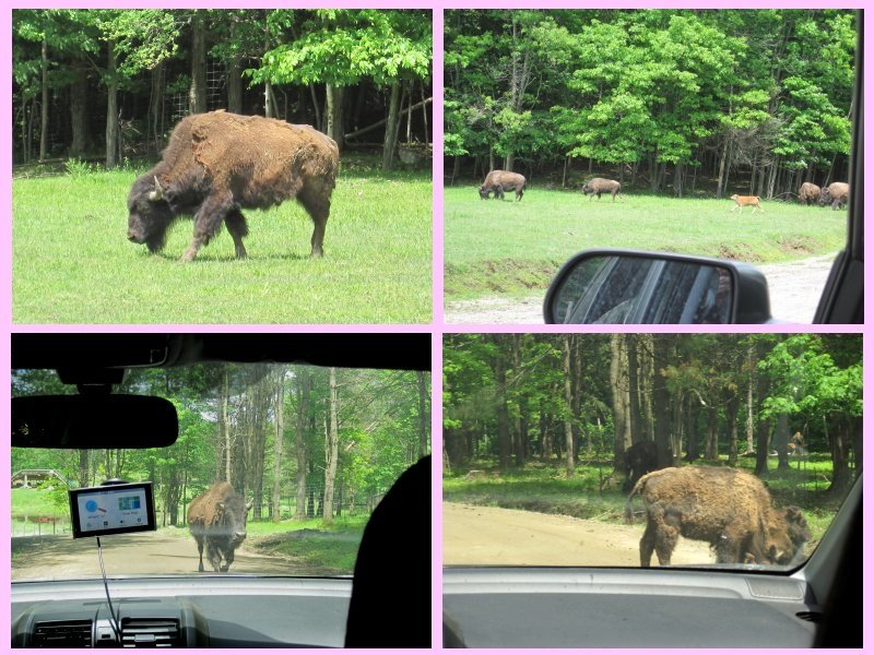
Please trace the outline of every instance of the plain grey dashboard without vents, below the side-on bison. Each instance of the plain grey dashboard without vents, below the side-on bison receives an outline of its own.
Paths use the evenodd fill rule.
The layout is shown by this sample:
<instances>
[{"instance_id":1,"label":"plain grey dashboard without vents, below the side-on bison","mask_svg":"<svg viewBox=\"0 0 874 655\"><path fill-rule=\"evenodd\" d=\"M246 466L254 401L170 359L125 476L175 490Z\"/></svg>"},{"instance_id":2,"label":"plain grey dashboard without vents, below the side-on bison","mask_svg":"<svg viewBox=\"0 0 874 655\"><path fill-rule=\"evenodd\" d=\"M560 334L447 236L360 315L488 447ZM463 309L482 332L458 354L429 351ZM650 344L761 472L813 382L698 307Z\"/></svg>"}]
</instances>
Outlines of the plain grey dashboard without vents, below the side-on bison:
<instances>
[{"instance_id":1,"label":"plain grey dashboard without vents, below the side-on bison","mask_svg":"<svg viewBox=\"0 0 874 655\"><path fill-rule=\"evenodd\" d=\"M819 608L794 575L681 569L444 570L444 645L810 647Z\"/></svg>"}]
</instances>

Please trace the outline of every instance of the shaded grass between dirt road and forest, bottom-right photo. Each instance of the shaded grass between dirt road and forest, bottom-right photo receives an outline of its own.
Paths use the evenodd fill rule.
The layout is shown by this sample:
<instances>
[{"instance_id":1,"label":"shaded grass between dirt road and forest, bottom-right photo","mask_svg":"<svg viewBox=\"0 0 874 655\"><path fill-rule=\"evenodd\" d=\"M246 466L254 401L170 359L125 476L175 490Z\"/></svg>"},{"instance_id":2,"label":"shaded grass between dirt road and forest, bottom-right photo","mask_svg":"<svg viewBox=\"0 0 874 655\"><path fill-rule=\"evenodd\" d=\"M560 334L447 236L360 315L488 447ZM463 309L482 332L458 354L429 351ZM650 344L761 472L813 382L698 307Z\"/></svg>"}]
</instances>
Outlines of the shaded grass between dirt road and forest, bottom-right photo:
<instances>
[{"instance_id":1,"label":"shaded grass between dirt road and forest, bottom-right photo","mask_svg":"<svg viewBox=\"0 0 874 655\"><path fill-rule=\"evenodd\" d=\"M722 457L721 464L724 465L725 460ZM610 523L624 522L627 493L621 490L623 478L611 476L611 461L583 461L570 478L565 476L564 465L555 462L532 461L521 471L504 474L485 462L482 464L472 465L476 472L474 474L470 474L469 468L445 475L444 500ZM740 457L737 467L752 471L755 457ZM769 463L769 468L766 483L775 503L802 508L813 533L812 543L818 541L839 507L826 495L831 474L830 456L812 453L801 469L796 463L792 463L789 469L778 471L776 461ZM636 504L640 509L639 499Z\"/></svg>"}]
</instances>

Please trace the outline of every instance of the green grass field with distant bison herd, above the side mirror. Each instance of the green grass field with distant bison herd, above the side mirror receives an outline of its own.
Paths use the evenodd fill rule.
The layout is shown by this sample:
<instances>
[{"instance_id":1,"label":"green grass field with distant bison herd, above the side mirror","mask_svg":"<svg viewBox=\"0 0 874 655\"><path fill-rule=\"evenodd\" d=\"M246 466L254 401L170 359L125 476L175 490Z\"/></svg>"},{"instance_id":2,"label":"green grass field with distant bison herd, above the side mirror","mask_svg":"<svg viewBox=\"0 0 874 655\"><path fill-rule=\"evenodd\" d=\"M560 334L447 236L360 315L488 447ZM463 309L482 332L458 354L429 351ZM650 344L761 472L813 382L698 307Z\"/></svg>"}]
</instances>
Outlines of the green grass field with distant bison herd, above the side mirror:
<instances>
[{"instance_id":1,"label":"green grass field with distant bison herd, above the side mirror","mask_svg":"<svg viewBox=\"0 0 874 655\"><path fill-rule=\"evenodd\" d=\"M444 195L445 294L450 299L545 291L558 267L590 248L634 248L776 263L839 250L845 212L763 201L626 195L611 203L533 188L520 202L481 201L475 187Z\"/></svg>"}]
</instances>

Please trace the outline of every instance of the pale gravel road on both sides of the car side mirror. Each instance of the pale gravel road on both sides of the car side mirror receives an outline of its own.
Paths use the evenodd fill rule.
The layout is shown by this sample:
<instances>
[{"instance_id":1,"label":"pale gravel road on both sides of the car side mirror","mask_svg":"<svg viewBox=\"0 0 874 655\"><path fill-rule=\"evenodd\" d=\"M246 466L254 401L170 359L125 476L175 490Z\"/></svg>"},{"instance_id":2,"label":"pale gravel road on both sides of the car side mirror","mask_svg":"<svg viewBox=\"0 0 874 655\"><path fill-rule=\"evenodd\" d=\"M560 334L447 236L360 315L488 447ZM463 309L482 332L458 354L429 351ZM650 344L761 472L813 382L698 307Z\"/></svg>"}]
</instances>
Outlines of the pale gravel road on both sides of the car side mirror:
<instances>
[{"instance_id":1,"label":"pale gravel road on both sides of the car side mirror","mask_svg":"<svg viewBox=\"0 0 874 655\"><path fill-rule=\"evenodd\" d=\"M786 264L757 266L768 279L771 315L790 323L810 323L837 253ZM525 298L477 298L446 303L447 323L543 323L546 289Z\"/></svg>"}]
</instances>

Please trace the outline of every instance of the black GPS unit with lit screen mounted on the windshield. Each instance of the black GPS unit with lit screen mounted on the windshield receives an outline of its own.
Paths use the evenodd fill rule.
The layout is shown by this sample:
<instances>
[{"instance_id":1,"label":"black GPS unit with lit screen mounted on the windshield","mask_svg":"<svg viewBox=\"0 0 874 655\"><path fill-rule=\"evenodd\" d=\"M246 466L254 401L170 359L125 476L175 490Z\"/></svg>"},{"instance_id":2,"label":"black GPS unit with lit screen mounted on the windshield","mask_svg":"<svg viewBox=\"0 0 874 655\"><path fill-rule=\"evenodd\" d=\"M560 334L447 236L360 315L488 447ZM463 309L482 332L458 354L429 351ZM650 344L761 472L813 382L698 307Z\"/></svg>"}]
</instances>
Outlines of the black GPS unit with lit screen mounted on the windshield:
<instances>
[{"instance_id":1,"label":"black GPS unit with lit screen mounted on the windshield","mask_svg":"<svg viewBox=\"0 0 874 655\"><path fill-rule=\"evenodd\" d=\"M72 489L73 538L155 529L152 483Z\"/></svg>"}]
</instances>

